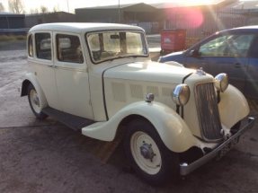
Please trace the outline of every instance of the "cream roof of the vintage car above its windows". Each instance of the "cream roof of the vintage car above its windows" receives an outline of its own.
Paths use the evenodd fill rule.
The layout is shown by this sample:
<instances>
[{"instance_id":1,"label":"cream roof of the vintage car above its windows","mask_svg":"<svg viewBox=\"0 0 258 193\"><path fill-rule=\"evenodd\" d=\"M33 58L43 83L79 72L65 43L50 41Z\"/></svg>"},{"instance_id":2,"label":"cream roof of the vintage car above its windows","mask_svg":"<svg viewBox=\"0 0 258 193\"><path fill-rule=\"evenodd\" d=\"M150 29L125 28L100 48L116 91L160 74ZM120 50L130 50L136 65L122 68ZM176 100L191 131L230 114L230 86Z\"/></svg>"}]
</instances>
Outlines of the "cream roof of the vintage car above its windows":
<instances>
[{"instance_id":1,"label":"cream roof of the vintage car above its windows","mask_svg":"<svg viewBox=\"0 0 258 193\"><path fill-rule=\"evenodd\" d=\"M125 25L119 23L100 22L52 22L35 25L31 31L67 31L67 32L91 32L91 31L144 31L138 26Z\"/></svg>"}]
</instances>

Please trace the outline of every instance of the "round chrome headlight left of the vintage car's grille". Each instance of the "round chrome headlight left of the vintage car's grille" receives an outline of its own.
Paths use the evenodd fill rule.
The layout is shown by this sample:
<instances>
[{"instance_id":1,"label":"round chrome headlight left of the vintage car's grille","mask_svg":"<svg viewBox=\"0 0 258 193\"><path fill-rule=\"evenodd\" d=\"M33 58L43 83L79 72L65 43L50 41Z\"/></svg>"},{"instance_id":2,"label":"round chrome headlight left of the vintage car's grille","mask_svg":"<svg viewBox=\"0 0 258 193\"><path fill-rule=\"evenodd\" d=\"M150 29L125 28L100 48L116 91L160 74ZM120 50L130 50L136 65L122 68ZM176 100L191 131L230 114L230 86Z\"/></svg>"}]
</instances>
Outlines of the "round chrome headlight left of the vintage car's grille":
<instances>
[{"instance_id":1,"label":"round chrome headlight left of the vintage car's grille","mask_svg":"<svg viewBox=\"0 0 258 193\"><path fill-rule=\"evenodd\" d=\"M185 83L177 85L173 90L173 101L177 105L185 105L190 98L189 86Z\"/></svg>"}]
</instances>

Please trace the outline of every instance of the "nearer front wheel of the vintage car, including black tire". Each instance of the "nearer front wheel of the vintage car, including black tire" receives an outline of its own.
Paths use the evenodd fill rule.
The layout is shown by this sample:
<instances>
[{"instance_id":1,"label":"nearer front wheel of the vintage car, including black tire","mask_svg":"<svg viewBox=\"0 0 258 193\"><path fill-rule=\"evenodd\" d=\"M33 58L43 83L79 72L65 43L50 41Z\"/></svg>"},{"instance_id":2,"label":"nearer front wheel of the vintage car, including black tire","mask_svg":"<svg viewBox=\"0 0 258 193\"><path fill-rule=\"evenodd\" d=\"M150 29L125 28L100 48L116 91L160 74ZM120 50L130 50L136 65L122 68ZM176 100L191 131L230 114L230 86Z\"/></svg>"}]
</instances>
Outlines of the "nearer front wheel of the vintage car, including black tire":
<instances>
[{"instance_id":1,"label":"nearer front wheel of the vintage car, including black tire","mask_svg":"<svg viewBox=\"0 0 258 193\"><path fill-rule=\"evenodd\" d=\"M171 152L147 120L129 123L124 140L125 154L138 176L151 185L179 179L179 157Z\"/></svg>"}]
</instances>

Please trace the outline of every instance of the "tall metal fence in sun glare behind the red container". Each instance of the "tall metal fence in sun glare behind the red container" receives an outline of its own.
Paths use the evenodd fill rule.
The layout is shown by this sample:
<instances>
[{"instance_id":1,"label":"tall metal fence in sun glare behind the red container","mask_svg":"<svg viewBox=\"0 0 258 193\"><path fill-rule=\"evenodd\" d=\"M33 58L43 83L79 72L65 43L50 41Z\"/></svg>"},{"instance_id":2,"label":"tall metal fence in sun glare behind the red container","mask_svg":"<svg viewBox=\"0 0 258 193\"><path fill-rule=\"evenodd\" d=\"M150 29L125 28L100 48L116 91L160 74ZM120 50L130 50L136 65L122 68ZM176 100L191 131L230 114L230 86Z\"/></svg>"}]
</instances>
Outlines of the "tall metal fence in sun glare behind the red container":
<instances>
[{"instance_id":1,"label":"tall metal fence in sun glare behind the red container","mask_svg":"<svg viewBox=\"0 0 258 193\"><path fill-rule=\"evenodd\" d=\"M199 22L196 21L196 15L200 16ZM163 22L138 22L133 24L144 28L148 34L159 33L165 29L185 29L187 33L186 47L189 48L193 43L216 31L245 25L258 25L258 8L256 13L251 10L233 8L174 9L166 15Z\"/></svg>"}]
</instances>

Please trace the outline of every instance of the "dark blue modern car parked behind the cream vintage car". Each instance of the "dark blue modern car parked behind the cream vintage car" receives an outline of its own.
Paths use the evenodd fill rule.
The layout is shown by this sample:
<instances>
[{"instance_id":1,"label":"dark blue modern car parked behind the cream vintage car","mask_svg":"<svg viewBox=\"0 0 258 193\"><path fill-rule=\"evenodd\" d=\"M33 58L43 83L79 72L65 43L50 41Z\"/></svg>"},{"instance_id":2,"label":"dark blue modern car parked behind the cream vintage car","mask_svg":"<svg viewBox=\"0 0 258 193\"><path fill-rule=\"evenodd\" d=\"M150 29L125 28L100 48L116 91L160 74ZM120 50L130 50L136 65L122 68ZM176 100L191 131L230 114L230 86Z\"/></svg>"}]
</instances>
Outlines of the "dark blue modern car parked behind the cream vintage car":
<instances>
[{"instance_id":1,"label":"dark blue modern car parked behind the cream vintage car","mask_svg":"<svg viewBox=\"0 0 258 193\"><path fill-rule=\"evenodd\" d=\"M258 99L258 25L219 31L185 51L159 58L185 67L202 67L211 75L227 73L245 96Z\"/></svg>"}]
</instances>

